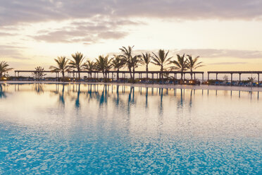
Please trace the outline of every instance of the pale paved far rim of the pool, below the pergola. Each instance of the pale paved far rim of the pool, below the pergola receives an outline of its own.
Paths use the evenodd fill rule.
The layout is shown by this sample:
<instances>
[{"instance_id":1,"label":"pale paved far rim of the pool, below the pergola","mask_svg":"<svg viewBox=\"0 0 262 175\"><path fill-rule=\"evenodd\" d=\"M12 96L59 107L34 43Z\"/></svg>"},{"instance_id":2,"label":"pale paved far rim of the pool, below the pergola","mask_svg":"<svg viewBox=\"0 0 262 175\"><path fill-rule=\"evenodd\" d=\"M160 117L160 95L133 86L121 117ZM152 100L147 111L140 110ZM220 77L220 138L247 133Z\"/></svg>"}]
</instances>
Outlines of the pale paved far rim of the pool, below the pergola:
<instances>
[{"instance_id":1,"label":"pale paved far rim of the pool, below the pergola","mask_svg":"<svg viewBox=\"0 0 262 175\"><path fill-rule=\"evenodd\" d=\"M92 83L92 82L56 82L56 81L6 81L0 84L83 84L83 85L126 85L131 87L155 87L155 88L175 88L189 90L232 90L232 91L248 91L262 92L262 87L239 87L239 86L223 86L223 85L160 85L160 84L143 84L143 83Z\"/></svg>"}]
</instances>

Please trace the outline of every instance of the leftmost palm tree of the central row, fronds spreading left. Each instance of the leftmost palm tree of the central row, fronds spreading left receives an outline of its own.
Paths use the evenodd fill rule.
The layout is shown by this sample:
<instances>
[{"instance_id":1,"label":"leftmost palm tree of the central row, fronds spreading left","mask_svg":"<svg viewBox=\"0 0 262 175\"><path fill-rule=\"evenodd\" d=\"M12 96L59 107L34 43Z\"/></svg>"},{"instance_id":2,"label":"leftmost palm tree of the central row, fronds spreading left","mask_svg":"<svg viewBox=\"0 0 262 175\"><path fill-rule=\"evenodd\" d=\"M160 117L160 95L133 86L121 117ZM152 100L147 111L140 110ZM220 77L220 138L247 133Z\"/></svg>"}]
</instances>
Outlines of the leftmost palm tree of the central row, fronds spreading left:
<instances>
[{"instance_id":1,"label":"leftmost palm tree of the central row, fronds spreading left","mask_svg":"<svg viewBox=\"0 0 262 175\"><path fill-rule=\"evenodd\" d=\"M66 60L66 56L58 56L57 59L54 59L56 61L56 66L50 66L49 69L54 72L61 72L63 79L65 78L65 72L70 70L70 67L68 65L68 61Z\"/></svg>"}]
</instances>

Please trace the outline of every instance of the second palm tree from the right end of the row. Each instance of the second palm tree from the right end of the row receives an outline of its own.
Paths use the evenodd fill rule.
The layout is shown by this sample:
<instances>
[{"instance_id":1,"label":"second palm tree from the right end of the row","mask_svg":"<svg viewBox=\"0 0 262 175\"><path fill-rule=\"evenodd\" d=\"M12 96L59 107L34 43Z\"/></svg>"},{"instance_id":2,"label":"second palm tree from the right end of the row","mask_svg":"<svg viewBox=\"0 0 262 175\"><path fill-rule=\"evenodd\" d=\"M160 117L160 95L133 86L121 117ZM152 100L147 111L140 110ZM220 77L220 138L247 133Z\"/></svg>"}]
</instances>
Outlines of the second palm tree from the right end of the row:
<instances>
[{"instance_id":1,"label":"second palm tree from the right end of the row","mask_svg":"<svg viewBox=\"0 0 262 175\"><path fill-rule=\"evenodd\" d=\"M169 61L170 64L175 64L175 66L170 66L171 70L181 71L181 81L183 80L183 73L187 71L188 68L188 60L185 59L185 54L180 56L177 54L177 61Z\"/></svg>"}]
</instances>

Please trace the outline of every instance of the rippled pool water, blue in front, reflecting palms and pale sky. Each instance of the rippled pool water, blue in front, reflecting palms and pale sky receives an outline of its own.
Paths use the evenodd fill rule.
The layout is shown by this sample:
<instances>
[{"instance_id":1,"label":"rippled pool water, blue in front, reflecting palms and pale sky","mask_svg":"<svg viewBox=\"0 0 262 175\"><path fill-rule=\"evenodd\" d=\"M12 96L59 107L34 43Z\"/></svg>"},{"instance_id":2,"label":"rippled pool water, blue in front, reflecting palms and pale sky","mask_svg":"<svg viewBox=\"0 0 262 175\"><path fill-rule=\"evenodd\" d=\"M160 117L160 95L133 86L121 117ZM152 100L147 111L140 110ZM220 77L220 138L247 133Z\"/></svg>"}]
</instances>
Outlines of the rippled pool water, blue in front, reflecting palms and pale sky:
<instances>
[{"instance_id":1,"label":"rippled pool water, blue in front, reflecting palms and pale sky","mask_svg":"<svg viewBox=\"0 0 262 175\"><path fill-rule=\"evenodd\" d=\"M259 92L0 90L0 174L262 174Z\"/></svg>"}]
</instances>

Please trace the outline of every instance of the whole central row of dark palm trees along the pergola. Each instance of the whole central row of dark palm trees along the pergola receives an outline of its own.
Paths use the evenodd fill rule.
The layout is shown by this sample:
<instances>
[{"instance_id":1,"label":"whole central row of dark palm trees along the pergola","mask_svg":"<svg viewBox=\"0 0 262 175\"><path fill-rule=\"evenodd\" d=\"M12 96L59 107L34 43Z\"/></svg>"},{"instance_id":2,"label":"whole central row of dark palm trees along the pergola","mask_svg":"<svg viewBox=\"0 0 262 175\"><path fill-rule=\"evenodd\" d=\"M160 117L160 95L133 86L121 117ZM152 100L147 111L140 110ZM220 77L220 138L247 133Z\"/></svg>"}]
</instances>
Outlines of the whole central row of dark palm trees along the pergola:
<instances>
[{"instance_id":1,"label":"whole central row of dark palm trees along the pergola","mask_svg":"<svg viewBox=\"0 0 262 175\"><path fill-rule=\"evenodd\" d=\"M184 71L194 71L194 69L203 66L202 62L199 62L199 56L196 58L192 58L191 55L185 56L183 54L180 56L177 54L177 60L172 60L173 56L168 56L169 51L165 52L163 49L159 49L155 54L154 52L142 53L133 55L132 49L133 47L121 47L119 55L114 55L113 58L109 58L109 56L100 55L98 59L95 61L84 61L85 57L83 54L77 52L76 54L72 54L72 59L66 59L65 56L58 57L58 59L54 59L56 61L57 66L50 66L52 71L58 71L62 73L63 78L65 77L65 72L70 70L76 70L78 73L78 78L80 78L80 71L101 71L103 73L104 78L107 78L107 72L114 68L117 71L117 79L119 79L118 72L121 68L127 68L130 72L131 80L135 81L135 68L138 66L146 67L146 78L148 78L149 64L152 63L156 66L160 67L160 78L163 79L163 71L181 71L181 80L183 78ZM168 68L166 68L168 65ZM191 73L192 79L192 73Z\"/></svg>"}]
</instances>

